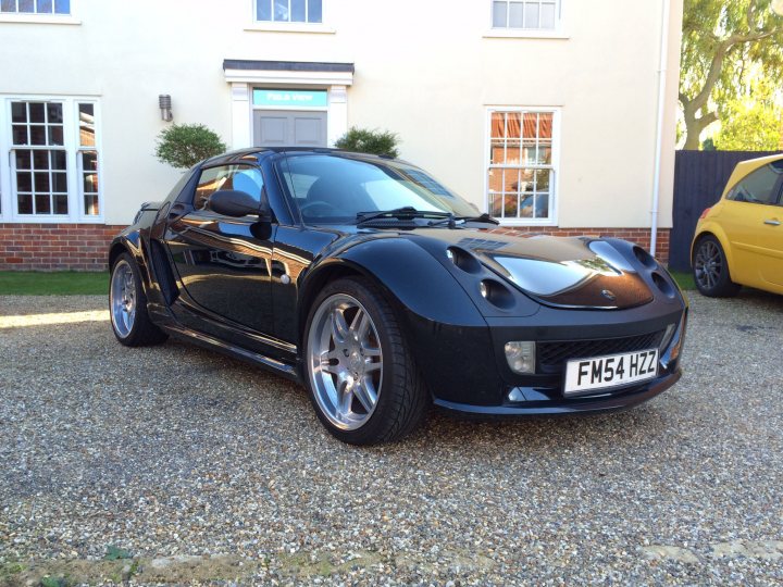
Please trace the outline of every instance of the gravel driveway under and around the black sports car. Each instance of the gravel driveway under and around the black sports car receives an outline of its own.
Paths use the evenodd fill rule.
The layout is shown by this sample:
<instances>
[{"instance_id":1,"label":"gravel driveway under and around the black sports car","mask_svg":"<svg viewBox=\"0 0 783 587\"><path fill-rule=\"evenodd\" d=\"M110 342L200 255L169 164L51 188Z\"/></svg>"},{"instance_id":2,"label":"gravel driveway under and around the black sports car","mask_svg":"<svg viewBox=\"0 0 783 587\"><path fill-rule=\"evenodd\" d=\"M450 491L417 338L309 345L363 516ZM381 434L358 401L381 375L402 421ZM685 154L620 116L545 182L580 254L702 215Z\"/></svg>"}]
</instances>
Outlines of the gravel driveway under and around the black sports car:
<instances>
[{"instance_id":1,"label":"gravel driveway under and around the black sports car","mask_svg":"<svg viewBox=\"0 0 783 587\"><path fill-rule=\"evenodd\" d=\"M0 585L780 585L783 297L691 301L643 407L357 449L282 378L120 346L103 298L0 298Z\"/></svg>"}]
</instances>

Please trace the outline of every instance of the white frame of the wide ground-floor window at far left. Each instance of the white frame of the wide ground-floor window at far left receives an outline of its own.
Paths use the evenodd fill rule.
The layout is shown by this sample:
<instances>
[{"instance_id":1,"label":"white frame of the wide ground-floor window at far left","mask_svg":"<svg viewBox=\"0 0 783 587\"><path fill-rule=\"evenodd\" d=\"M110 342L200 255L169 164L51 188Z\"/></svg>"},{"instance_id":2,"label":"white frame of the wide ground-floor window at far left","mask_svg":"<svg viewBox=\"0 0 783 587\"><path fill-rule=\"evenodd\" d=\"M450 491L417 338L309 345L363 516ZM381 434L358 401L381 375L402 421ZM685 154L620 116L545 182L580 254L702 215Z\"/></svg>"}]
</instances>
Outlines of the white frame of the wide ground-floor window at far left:
<instances>
[{"instance_id":1,"label":"white frame of the wide ground-floor window at far left","mask_svg":"<svg viewBox=\"0 0 783 587\"><path fill-rule=\"evenodd\" d=\"M103 147L101 142L101 108L95 96L42 96L42 95L0 95L0 222L24 224L103 224L105 201L103 198L105 174L103 173ZM67 214L20 214L16 201L16 173L13 150L15 147L11 134L12 102L58 102L63 104L63 148L67 170ZM78 104L90 103L95 109L96 145L98 151L98 209L100 214L85 214L82 185L82 161L79 154L84 148L79 145Z\"/></svg>"}]
</instances>

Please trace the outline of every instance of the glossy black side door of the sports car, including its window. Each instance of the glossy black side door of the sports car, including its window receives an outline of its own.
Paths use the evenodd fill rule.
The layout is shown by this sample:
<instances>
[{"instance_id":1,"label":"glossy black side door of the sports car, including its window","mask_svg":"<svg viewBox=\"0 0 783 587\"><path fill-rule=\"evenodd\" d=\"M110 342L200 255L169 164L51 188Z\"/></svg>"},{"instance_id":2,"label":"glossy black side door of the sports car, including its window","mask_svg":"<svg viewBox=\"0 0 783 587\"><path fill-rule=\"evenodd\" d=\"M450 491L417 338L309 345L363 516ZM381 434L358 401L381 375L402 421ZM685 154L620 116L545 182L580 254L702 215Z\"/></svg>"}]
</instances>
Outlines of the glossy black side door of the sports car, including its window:
<instances>
[{"instance_id":1,"label":"glossy black side door of the sports car, including its window","mask_svg":"<svg viewBox=\"0 0 783 587\"><path fill-rule=\"evenodd\" d=\"M274 228L257 215L237 218L210 210L209 197L221 189L250 193L260 205L263 176L253 165L236 163L201 170L192 209L170 221L166 245L194 302L212 317L270 333Z\"/></svg>"}]
</instances>

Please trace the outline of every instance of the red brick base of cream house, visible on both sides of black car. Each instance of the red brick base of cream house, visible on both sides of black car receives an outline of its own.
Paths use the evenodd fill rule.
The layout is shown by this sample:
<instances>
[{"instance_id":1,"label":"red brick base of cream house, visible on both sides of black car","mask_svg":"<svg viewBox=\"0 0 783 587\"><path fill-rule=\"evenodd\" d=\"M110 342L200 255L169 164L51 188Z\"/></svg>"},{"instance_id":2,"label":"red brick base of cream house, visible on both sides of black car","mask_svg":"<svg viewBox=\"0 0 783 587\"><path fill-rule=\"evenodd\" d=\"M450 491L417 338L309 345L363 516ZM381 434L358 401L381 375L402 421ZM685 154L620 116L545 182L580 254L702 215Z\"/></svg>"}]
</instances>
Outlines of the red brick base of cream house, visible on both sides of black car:
<instances>
[{"instance_id":1,"label":"red brick base of cream house, visible on both sides of black car","mask_svg":"<svg viewBox=\"0 0 783 587\"><path fill-rule=\"evenodd\" d=\"M0 270L104 271L109 242L124 226L102 224L0 224ZM624 238L649 249L647 228L496 228L506 234L599 235ZM669 228L658 230L656 257L669 260Z\"/></svg>"}]
</instances>

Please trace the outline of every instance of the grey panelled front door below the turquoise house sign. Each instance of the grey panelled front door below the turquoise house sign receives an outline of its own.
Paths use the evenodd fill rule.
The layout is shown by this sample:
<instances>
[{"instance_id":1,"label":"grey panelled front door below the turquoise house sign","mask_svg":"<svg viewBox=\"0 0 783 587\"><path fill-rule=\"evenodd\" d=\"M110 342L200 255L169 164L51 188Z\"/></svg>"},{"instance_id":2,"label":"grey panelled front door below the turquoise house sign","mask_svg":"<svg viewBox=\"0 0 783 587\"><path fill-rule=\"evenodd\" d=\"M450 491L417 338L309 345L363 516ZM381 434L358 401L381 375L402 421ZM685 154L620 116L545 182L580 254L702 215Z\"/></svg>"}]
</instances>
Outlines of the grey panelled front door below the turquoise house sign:
<instances>
[{"instance_id":1,"label":"grey panelled front door below the turquoise house sign","mask_svg":"<svg viewBox=\"0 0 783 587\"><path fill-rule=\"evenodd\" d=\"M326 147L326 112L253 111L256 147Z\"/></svg>"}]
</instances>

